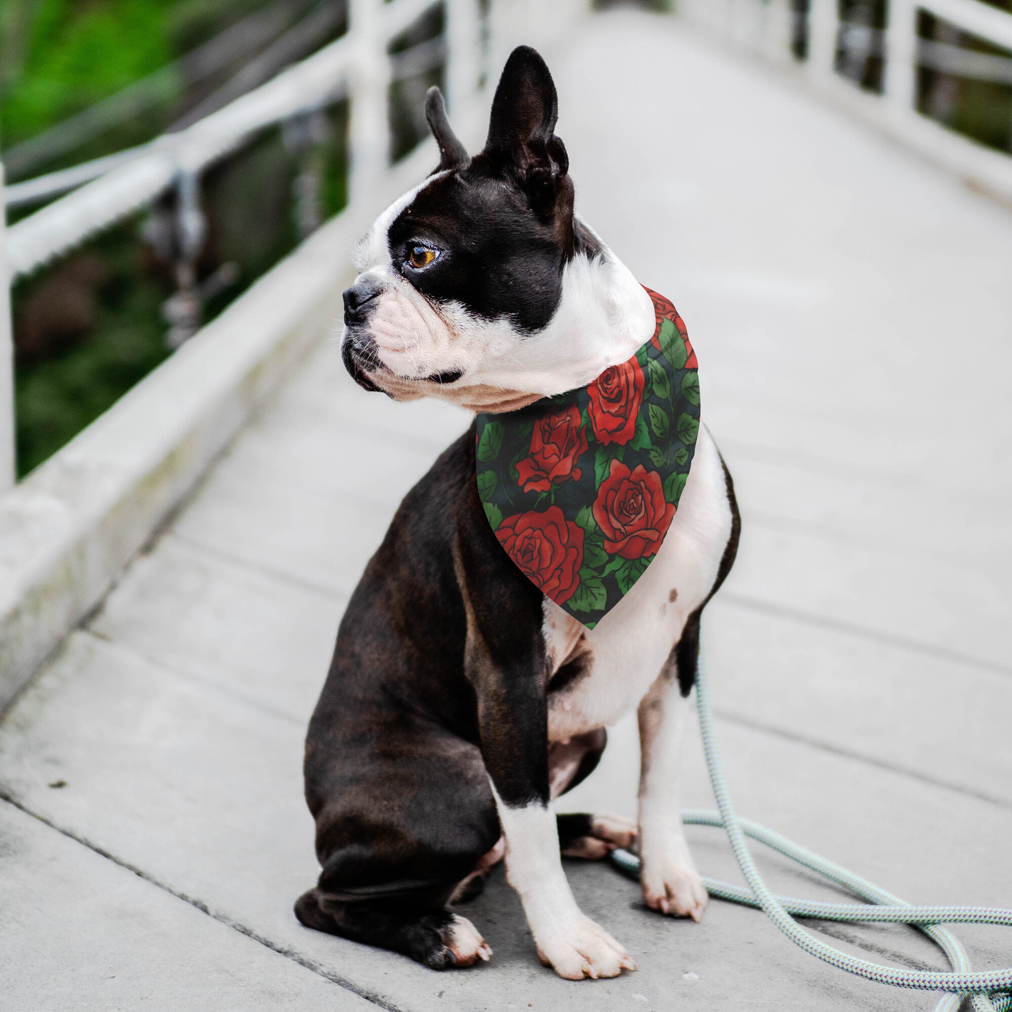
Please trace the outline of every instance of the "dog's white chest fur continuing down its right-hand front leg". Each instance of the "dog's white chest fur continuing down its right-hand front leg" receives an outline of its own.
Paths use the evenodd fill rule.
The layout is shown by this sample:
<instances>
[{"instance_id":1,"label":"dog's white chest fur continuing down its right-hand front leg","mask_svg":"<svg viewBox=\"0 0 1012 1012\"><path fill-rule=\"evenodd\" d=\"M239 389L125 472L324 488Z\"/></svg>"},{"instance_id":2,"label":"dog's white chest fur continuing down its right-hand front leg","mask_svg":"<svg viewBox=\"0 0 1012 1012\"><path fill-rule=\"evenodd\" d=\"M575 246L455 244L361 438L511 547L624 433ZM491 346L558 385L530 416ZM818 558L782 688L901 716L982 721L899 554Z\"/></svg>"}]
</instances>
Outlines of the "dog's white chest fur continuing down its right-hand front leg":
<instances>
[{"instance_id":1,"label":"dog's white chest fur continuing down its right-hand front leg","mask_svg":"<svg viewBox=\"0 0 1012 1012\"><path fill-rule=\"evenodd\" d=\"M678 512L632 590L591 630L550 598L543 605L553 674L573 657L591 655L581 676L549 696L549 739L565 741L614 724L639 706L644 900L654 910L696 921L707 897L682 829L678 791L689 704L668 658L713 586L731 522L721 458L700 426Z\"/></svg>"}]
</instances>

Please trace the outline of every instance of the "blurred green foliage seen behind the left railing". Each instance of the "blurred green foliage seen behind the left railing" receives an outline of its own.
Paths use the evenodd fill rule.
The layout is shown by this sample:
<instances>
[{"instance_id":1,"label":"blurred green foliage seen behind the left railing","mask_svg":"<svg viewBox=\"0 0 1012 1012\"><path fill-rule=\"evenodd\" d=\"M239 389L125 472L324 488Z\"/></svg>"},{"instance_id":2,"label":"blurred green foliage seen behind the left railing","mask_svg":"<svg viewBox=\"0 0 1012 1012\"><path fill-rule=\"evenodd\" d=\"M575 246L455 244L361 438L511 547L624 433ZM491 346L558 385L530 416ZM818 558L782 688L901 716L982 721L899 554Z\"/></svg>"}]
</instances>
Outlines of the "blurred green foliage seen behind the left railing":
<instances>
[{"instance_id":1,"label":"blurred green foliage seen behind the left railing","mask_svg":"<svg viewBox=\"0 0 1012 1012\"><path fill-rule=\"evenodd\" d=\"M148 77L267 0L0 0L0 148L6 150ZM171 81L170 81L171 84ZM107 131L46 168L156 136L182 98ZM323 218L345 203L347 104L327 113L312 153L283 131L253 138L207 168L208 239L201 278L223 263L239 279L210 298L214 319L298 244L293 183L313 160ZM37 171L37 170L36 170ZM156 214L171 217L171 193ZM16 217L30 214L26 207ZM8 216L8 221L11 216ZM13 288L18 473L25 475L109 408L169 354L162 306L171 264L140 240L145 214L109 229Z\"/></svg>"}]
</instances>

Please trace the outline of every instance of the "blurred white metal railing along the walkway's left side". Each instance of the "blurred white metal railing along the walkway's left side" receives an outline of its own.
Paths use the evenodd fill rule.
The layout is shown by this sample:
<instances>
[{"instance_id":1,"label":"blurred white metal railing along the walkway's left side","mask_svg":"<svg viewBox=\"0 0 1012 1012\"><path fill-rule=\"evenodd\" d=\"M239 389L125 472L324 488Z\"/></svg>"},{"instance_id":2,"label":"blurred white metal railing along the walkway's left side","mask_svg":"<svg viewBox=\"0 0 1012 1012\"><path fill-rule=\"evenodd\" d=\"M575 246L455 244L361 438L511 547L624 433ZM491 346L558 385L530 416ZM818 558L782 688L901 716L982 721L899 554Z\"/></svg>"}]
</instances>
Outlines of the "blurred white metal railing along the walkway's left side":
<instances>
[{"instance_id":1,"label":"blurred white metal railing along the walkway's left side","mask_svg":"<svg viewBox=\"0 0 1012 1012\"><path fill-rule=\"evenodd\" d=\"M390 57L391 40L439 4L445 14L444 37ZM525 11L528 6L524 0L512 5L514 27L524 13L532 13ZM572 13L585 4L569 0L560 6ZM200 173L258 132L350 97L350 207L371 199L382 188L389 168L387 102L393 79L416 73L419 67L434 66L433 61L445 61L450 109L468 104L483 70L483 5L479 0L349 0L348 7L348 30L339 39L192 125L98 163L65 170L55 183L50 178L19 184L20 195L32 186L39 193L54 185L49 192L60 192L70 185L79 188L6 230L0 229L0 278L5 274L7 278L7 284L0 284L0 492L14 478L9 284L173 187L178 194L182 245L188 249L183 260L188 260L192 275L204 231L199 209ZM487 5L484 9L487 11ZM511 33L507 20L500 18L504 35ZM2 198L0 175L0 207L4 206ZM186 276L185 262L182 267L180 275L177 265L181 293L187 283L192 287L194 280ZM185 315L186 300L178 301L178 306Z\"/></svg>"}]
</instances>

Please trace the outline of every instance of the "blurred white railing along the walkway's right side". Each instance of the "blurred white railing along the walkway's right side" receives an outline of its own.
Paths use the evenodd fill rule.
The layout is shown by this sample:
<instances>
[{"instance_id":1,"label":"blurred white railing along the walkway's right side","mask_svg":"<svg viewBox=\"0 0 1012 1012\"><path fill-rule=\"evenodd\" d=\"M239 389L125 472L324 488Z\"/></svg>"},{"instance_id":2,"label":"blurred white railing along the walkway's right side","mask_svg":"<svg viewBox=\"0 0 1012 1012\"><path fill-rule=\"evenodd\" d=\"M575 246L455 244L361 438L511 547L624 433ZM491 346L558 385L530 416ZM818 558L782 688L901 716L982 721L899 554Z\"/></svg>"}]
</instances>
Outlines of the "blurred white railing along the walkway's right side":
<instances>
[{"instance_id":1,"label":"blurred white railing along the walkway's right side","mask_svg":"<svg viewBox=\"0 0 1012 1012\"><path fill-rule=\"evenodd\" d=\"M804 6L804 10L796 8ZM848 24L839 0L678 0L680 15L737 47L781 65L797 63L797 29L804 29L805 76L849 108L868 116L921 154L957 172L979 188L1012 202L1012 157L978 144L923 115L917 107L918 69L997 83L1012 83L1012 14L982 0L889 0L883 30ZM918 15L932 14L959 32L1010 52L974 53L920 37ZM881 56L881 93L855 88L838 66L852 49Z\"/></svg>"}]
</instances>

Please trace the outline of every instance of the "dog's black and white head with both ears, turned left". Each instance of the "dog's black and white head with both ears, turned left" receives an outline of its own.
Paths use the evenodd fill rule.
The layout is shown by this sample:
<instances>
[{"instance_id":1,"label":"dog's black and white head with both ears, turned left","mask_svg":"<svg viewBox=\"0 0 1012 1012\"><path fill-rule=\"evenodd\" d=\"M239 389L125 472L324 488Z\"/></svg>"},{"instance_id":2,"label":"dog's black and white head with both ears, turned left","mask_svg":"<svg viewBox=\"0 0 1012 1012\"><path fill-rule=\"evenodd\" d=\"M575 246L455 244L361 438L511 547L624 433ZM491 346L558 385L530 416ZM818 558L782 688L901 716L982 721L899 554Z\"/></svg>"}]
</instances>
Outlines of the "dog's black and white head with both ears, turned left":
<instances>
[{"instance_id":1,"label":"dog's black and white head with both ears, turned left","mask_svg":"<svg viewBox=\"0 0 1012 1012\"><path fill-rule=\"evenodd\" d=\"M515 50L469 159L429 92L439 168L376 220L344 293L342 354L360 386L506 411L590 382L649 338L649 299L574 218L557 110L544 62Z\"/></svg>"}]
</instances>

